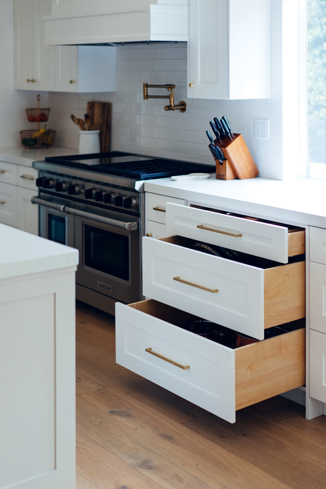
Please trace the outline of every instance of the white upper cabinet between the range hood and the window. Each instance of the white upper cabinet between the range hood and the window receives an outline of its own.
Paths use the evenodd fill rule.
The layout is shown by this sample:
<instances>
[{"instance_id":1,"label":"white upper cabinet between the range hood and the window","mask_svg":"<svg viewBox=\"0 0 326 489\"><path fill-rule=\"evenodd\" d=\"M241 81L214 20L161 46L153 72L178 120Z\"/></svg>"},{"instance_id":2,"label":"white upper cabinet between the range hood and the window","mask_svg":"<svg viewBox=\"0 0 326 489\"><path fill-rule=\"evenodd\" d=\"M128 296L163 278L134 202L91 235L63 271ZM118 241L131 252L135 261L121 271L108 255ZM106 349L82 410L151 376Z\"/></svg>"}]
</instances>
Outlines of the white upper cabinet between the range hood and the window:
<instances>
[{"instance_id":1,"label":"white upper cabinet between the range hood and the window","mask_svg":"<svg viewBox=\"0 0 326 489\"><path fill-rule=\"evenodd\" d=\"M189 0L188 97L270 97L270 0Z\"/></svg>"}]
</instances>

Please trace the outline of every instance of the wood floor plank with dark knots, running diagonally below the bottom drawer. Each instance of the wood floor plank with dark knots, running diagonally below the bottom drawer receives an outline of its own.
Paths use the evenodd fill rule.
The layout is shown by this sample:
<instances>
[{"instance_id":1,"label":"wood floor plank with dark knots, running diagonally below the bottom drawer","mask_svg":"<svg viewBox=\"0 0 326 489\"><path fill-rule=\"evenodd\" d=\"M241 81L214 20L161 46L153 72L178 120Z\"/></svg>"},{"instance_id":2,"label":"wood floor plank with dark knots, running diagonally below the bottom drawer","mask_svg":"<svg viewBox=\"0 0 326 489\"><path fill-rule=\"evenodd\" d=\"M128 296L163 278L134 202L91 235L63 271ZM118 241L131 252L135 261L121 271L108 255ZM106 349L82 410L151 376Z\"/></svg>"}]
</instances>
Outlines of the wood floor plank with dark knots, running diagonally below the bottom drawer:
<instances>
[{"instance_id":1,"label":"wood floor plank with dark knots, running diagonally below the bottom drawer","mask_svg":"<svg viewBox=\"0 0 326 489\"><path fill-rule=\"evenodd\" d=\"M209 474L216 482L230 484L233 489L242 489L244 480L250 488L284 488L277 478L270 478L266 483L266 473L251 463L245 463L222 446L216 446L207 438L185 430L184 425L164 416L138 400L124 395L123 390L112 386L91 394L83 399L119 419L130 429L137 430L151 440L157 441L165 450L171 452L171 459L187 460L196 471ZM200 463L199 463L200 461ZM233 467L241 466L241 473Z\"/></svg>"}]
</instances>

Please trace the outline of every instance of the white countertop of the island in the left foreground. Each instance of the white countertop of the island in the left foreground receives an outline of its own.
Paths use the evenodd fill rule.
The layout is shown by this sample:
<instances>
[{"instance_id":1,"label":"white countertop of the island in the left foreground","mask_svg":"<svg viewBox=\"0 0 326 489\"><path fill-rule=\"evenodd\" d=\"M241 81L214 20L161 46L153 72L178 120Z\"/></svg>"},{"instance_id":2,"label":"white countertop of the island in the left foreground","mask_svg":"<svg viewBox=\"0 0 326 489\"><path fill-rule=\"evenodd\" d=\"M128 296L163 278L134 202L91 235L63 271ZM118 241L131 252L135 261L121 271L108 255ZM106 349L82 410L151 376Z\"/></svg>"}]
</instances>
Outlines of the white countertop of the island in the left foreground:
<instances>
[{"instance_id":1,"label":"white countertop of the island in the left foreground","mask_svg":"<svg viewBox=\"0 0 326 489\"><path fill-rule=\"evenodd\" d=\"M0 224L0 280L77 264L77 249Z\"/></svg>"}]
</instances>

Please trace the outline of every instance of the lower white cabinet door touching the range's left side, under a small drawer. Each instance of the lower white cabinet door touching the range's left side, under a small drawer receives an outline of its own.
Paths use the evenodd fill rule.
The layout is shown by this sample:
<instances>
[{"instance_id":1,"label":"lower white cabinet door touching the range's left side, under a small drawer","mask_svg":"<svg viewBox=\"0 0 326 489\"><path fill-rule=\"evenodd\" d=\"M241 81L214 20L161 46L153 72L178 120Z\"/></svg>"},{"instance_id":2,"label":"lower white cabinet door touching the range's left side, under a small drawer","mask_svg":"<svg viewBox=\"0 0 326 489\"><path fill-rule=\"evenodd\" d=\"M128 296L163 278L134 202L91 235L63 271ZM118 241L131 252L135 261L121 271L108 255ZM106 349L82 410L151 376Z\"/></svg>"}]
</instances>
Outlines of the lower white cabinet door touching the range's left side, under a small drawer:
<instances>
[{"instance_id":1,"label":"lower white cabinet door touching the range's left side, under a small drawer","mask_svg":"<svg viewBox=\"0 0 326 489\"><path fill-rule=\"evenodd\" d=\"M38 194L35 190L18 187L18 229L39 236L39 206L32 204L32 197Z\"/></svg>"}]
</instances>

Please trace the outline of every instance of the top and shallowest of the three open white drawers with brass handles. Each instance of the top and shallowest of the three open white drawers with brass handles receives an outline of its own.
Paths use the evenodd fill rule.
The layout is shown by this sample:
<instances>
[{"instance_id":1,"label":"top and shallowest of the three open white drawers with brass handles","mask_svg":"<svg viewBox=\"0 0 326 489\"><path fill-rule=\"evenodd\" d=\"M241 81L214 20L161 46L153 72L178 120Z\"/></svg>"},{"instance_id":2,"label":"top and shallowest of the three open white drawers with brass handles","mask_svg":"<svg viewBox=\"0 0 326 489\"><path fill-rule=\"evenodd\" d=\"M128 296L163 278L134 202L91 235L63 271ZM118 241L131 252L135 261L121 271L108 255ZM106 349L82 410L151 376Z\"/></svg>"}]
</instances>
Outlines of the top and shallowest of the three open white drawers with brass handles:
<instances>
[{"instance_id":1,"label":"top and shallowest of the three open white drawers with brass handles","mask_svg":"<svg viewBox=\"0 0 326 489\"><path fill-rule=\"evenodd\" d=\"M166 232L287 263L305 252L305 230L213 209L166 204Z\"/></svg>"}]
</instances>

